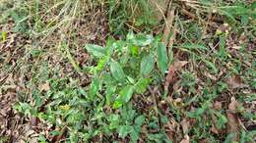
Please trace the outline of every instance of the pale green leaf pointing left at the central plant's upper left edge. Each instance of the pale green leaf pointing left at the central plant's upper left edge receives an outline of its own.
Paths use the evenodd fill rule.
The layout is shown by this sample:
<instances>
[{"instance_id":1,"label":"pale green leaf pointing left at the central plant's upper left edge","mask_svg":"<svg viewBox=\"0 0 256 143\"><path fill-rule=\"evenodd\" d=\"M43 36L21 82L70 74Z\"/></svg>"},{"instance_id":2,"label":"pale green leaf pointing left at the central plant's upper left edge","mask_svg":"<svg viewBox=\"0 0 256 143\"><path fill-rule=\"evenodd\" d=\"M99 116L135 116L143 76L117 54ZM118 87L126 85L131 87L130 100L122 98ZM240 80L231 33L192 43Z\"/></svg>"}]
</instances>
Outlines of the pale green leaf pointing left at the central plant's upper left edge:
<instances>
[{"instance_id":1,"label":"pale green leaf pointing left at the central plant's upper left edge","mask_svg":"<svg viewBox=\"0 0 256 143\"><path fill-rule=\"evenodd\" d=\"M95 44L87 44L85 48L93 56L96 56L96 57L106 56L107 48L104 48Z\"/></svg>"}]
</instances>

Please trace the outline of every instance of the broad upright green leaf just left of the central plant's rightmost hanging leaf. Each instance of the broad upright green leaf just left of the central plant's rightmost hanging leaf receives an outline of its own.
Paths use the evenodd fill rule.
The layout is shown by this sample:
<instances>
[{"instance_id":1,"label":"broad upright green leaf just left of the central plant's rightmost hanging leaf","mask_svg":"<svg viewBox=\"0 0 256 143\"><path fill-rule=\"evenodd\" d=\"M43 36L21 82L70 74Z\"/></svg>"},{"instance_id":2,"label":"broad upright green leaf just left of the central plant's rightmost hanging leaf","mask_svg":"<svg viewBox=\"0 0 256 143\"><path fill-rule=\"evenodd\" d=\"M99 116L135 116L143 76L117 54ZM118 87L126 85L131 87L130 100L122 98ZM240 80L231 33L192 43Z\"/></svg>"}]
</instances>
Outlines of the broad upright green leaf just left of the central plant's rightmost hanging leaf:
<instances>
[{"instance_id":1,"label":"broad upright green leaf just left of the central plant's rightmost hanging leaf","mask_svg":"<svg viewBox=\"0 0 256 143\"><path fill-rule=\"evenodd\" d=\"M145 56L141 62L141 74L147 76L153 71L155 65L155 59L152 54Z\"/></svg>"}]
</instances>

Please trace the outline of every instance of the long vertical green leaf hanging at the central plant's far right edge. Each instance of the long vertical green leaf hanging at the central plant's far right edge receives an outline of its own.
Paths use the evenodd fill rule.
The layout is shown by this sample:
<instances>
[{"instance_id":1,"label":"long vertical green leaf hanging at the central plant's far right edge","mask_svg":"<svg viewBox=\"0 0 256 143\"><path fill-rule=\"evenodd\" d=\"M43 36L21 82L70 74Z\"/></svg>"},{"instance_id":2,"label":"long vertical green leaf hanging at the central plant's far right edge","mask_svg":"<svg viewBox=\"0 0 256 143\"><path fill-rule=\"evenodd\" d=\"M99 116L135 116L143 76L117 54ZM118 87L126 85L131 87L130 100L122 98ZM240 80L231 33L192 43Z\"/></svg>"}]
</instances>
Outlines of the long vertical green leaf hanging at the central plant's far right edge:
<instances>
[{"instance_id":1,"label":"long vertical green leaf hanging at the central plant's far right edge","mask_svg":"<svg viewBox=\"0 0 256 143\"><path fill-rule=\"evenodd\" d=\"M168 68L168 57L166 47L163 44L158 45L157 54L159 69L162 73L164 73Z\"/></svg>"}]
</instances>

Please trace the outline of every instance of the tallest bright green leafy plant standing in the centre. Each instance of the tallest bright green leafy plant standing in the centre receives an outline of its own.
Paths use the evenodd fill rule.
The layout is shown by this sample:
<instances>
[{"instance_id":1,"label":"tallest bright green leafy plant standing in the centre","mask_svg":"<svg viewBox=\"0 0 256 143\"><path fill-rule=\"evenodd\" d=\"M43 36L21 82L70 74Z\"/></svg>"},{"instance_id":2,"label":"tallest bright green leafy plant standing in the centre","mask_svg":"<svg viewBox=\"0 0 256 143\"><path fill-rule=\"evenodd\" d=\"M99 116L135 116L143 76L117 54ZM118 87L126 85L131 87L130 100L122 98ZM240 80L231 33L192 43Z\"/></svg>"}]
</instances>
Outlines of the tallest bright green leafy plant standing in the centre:
<instances>
[{"instance_id":1,"label":"tallest bright green leafy plant standing in the centre","mask_svg":"<svg viewBox=\"0 0 256 143\"><path fill-rule=\"evenodd\" d=\"M98 59L96 67L91 67L95 78L90 97L94 100L100 93L114 109L128 103L133 94L147 90L153 73L159 72L155 69L156 59L162 73L168 66L165 47L151 35L130 32L126 41L109 39L106 47L88 44L86 49Z\"/></svg>"}]
</instances>

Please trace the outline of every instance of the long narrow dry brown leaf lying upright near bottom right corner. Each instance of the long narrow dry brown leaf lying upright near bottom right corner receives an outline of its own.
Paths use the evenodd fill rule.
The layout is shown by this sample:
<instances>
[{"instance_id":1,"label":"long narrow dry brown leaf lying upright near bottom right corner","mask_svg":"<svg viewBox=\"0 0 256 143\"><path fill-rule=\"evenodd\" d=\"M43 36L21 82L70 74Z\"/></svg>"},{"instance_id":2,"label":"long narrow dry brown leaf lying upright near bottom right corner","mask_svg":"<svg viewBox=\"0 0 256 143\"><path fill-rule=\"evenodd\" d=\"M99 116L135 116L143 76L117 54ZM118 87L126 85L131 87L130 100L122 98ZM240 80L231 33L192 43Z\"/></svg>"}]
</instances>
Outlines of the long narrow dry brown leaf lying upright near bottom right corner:
<instances>
[{"instance_id":1,"label":"long narrow dry brown leaf lying upright near bottom right corner","mask_svg":"<svg viewBox=\"0 0 256 143\"><path fill-rule=\"evenodd\" d=\"M239 120L235 113L238 106L238 102L232 97L231 102L228 105L228 111L226 112L226 118L227 118L227 133L233 133L234 136L232 137L232 141L238 141L239 140Z\"/></svg>"}]
</instances>

